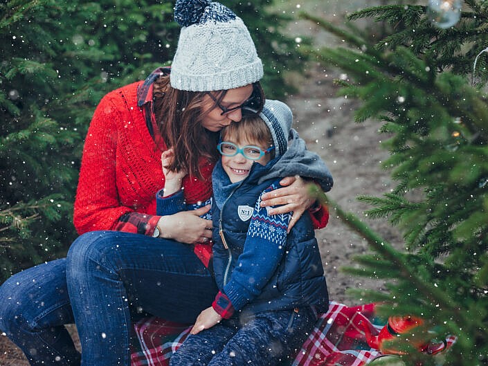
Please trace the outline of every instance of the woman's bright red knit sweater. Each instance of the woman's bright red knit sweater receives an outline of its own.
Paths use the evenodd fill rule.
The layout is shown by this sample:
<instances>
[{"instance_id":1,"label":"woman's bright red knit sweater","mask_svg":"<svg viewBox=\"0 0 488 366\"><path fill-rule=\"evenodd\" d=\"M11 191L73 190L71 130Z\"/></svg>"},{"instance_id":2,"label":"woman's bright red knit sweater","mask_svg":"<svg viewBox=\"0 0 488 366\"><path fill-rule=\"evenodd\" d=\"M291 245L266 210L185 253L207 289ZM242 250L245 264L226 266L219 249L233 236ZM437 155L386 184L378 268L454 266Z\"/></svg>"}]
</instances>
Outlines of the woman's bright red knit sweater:
<instances>
[{"instance_id":1,"label":"woman's bright red knit sweater","mask_svg":"<svg viewBox=\"0 0 488 366\"><path fill-rule=\"evenodd\" d=\"M159 221L154 214L156 192L165 181L162 151L147 129L143 108L137 106L140 84L111 91L93 114L75 199L74 223L80 234L121 230L152 235ZM183 179L188 203L210 197L212 168L202 165L205 181Z\"/></svg>"}]
</instances>

